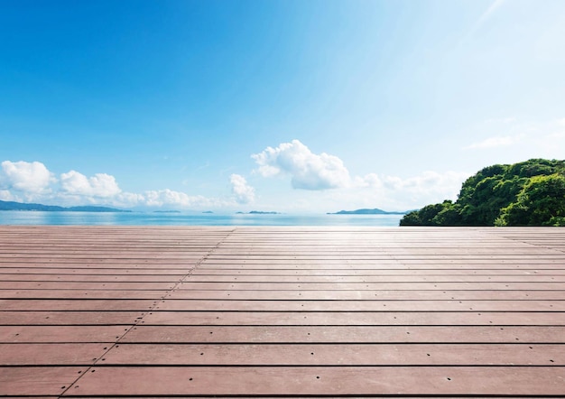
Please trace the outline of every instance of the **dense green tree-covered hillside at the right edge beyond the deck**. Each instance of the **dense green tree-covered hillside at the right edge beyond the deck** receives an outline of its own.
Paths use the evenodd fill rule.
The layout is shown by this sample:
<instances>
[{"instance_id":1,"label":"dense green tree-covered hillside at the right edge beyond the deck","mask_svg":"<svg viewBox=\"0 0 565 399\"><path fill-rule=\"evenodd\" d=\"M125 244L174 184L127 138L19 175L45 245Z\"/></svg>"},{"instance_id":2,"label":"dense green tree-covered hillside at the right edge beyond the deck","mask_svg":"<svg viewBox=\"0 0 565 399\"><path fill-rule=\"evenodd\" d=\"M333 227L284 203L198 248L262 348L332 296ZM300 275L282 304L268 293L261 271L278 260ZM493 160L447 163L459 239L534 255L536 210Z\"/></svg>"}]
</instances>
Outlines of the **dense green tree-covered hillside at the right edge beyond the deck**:
<instances>
[{"instance_id":1,"label":"dense green tree-covered hillside at the right edge beyond the deck","mask_svg":"<svg viewBox=\"0 0 565 399\"><path fill-rule=\"evenodd\" d=\"M427 205L401 226L565 226L565 161L493 165L463 183L458 200Z\"/></svg>"}]
</instances>

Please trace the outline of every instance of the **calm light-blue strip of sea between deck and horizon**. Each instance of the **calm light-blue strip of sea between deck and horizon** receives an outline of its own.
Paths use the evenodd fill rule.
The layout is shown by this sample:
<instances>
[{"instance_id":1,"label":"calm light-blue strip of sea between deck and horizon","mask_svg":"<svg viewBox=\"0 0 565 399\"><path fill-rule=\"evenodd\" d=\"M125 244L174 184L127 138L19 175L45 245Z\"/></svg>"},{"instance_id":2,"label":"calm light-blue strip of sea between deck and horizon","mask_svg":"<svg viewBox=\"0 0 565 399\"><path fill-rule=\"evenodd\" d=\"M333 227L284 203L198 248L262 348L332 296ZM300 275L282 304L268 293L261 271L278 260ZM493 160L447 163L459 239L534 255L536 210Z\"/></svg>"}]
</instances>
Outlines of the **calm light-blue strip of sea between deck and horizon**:
<instances>
[{"instance_id":1,"label":"calm light-blue strip of sea between deck and horizon","mask_svg":"<svg viewBox=\"0 0 565 399\"><path fill-rule=\"evenodd\" d=\"M256 215L156 212L0 211L0 225L86 226L378 226L396 227L402 215Z\"/></svg>"}]
</instances>

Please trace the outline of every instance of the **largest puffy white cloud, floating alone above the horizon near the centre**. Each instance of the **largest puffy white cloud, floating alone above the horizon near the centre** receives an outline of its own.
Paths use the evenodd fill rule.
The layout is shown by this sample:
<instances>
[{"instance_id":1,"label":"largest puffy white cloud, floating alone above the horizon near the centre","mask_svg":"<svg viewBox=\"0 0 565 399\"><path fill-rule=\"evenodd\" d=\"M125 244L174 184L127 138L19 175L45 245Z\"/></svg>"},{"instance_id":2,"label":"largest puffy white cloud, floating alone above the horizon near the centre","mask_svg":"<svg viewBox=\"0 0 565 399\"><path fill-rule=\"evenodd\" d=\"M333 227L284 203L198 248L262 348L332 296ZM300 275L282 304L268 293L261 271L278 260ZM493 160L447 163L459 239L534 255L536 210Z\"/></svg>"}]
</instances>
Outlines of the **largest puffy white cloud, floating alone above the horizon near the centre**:
<instances>
[{"instance_id":1,"label":"largest puffy white cloud, floating alone above the horizon near the centre","mask_svg":"<svg viewBox=\"0 0 565 399\"><path fill-rule=\"evenodd\" d=\"M343 162L328 153L312 153L298 140L267 147L252 158L256 172L264 177L290 175L292 187L302 190L328 190L347 186L350 178Z\"/></svg>"}]
</instances>

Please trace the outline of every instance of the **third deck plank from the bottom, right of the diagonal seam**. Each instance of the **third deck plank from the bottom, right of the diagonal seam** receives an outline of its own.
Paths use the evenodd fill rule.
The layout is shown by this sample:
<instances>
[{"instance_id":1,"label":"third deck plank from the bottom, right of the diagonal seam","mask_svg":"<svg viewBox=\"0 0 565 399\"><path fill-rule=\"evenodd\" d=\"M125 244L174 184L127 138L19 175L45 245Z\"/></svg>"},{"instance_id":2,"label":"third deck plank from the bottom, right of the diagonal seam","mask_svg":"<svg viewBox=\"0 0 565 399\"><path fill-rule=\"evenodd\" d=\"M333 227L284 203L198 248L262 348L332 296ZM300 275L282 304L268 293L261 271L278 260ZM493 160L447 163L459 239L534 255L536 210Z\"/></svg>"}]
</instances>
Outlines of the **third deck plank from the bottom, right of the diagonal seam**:
<instances>
[{"instance_id":1,"label":"third deck plank from the bottom, right of the diagonal seam","mask_svg":"<svg viewBox=\"0 0 565 399\"><path fill-rule=\"evenodd\" d=\"M144 326L132 343L565 343L565 327L546 326Z\"/></svg>"}]
</instances>

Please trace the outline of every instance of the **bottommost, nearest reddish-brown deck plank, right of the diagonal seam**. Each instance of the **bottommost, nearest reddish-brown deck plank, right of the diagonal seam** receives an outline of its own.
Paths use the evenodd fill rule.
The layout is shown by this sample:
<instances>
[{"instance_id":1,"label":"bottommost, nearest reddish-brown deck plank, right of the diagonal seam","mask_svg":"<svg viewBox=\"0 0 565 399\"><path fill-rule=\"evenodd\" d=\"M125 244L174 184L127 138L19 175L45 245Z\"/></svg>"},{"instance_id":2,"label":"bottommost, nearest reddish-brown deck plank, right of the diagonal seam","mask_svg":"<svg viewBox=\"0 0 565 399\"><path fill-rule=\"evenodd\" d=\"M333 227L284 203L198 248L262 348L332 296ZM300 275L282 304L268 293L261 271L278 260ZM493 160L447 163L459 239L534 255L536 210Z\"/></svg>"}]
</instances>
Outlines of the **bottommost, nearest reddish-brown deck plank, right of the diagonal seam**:
<instances>
[{"instance_id":1,"label":"bottommost, nearest reddish-brown deck plank, right of the diagonal seam","mask_svg":"<svg viewBox=\"0 0 565 399\"><path fill-rule=\"evenodd\" d=\"M555 395L563 393L565 376L564 367L95 367L92 371L72 394Z\"/></svg>"}]
</instances>

